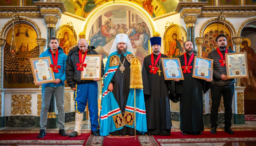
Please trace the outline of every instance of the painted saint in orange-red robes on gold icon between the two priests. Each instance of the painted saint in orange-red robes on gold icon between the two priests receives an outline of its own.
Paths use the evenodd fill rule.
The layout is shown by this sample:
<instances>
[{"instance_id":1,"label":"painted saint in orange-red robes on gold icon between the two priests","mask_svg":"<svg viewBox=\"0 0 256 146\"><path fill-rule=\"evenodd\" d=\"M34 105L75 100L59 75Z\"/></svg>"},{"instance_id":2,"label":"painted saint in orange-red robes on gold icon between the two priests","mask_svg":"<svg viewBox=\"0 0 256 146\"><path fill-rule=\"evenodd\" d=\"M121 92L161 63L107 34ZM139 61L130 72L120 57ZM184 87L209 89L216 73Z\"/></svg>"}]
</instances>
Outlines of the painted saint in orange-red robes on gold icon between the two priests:
<instances>
[{"instance_id":1,"label":"painted saint in orange-red robes on gold icon between the two priests","mask_svg":"<svg viewBox=\"0 0 256 146\"><path fill-rule=\"evenodd\" d=\"M172 34L172 39L173 41L171 42L171 45L169 47L169 56L172 56L172 58L176 58L182 53L182 47L179 40L177 40L176 33Z\"/></svg>"}]
</instances>

